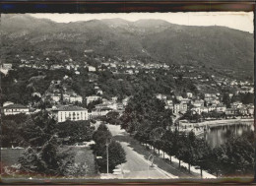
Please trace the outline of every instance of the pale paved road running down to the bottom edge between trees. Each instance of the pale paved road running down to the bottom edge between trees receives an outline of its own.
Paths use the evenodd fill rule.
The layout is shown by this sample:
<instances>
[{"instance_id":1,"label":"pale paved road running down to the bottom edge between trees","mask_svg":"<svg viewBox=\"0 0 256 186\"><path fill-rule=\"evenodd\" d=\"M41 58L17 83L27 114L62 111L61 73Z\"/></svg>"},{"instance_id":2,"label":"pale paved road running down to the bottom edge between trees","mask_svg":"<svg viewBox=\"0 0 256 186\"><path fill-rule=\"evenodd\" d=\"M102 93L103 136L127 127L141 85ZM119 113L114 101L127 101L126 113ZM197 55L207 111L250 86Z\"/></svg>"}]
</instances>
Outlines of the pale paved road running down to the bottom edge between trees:
<instances>
[{"instance_id":1,"label":"pale paved road running down to the bottom edge between trees","mask_svg":"<svg viewBox=\"0 0 256 186\"><path fill-rule=\"evenodd\" d=\"M120 130L119 126L107 125L113 136L128 135L127 133ZM164 170L161 170L157 165L151 167L151 162L148 161L143 155L139 155L126 142L120 142L124 151L126 152L127 162L122 164L122 169L125 171L125 178L132 179L169 179L176 178ZM119 166L121 168L121 166ZM149 170L148 170L149 168Z\"/></svg>"}]
</instances>

